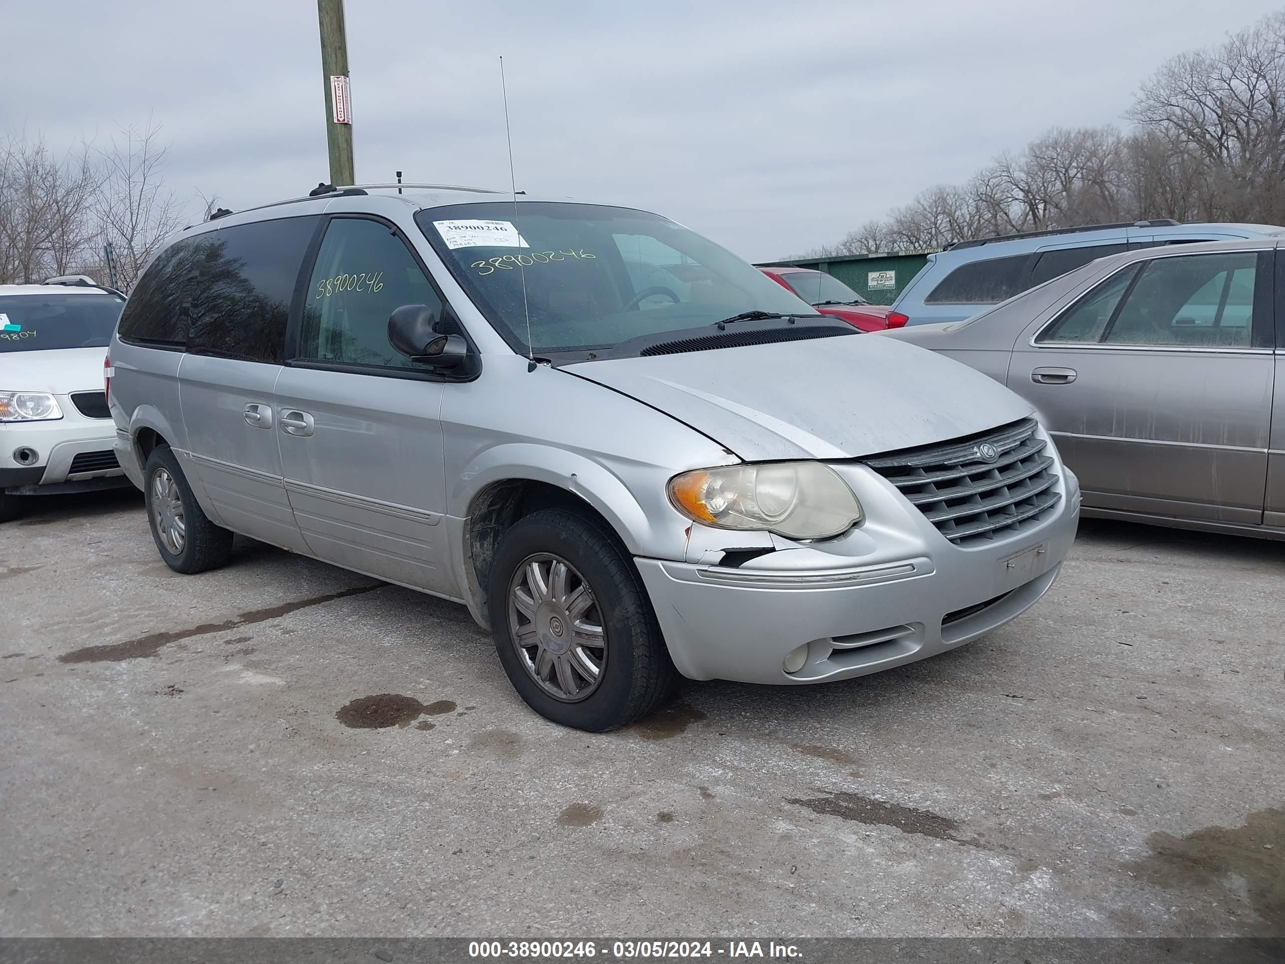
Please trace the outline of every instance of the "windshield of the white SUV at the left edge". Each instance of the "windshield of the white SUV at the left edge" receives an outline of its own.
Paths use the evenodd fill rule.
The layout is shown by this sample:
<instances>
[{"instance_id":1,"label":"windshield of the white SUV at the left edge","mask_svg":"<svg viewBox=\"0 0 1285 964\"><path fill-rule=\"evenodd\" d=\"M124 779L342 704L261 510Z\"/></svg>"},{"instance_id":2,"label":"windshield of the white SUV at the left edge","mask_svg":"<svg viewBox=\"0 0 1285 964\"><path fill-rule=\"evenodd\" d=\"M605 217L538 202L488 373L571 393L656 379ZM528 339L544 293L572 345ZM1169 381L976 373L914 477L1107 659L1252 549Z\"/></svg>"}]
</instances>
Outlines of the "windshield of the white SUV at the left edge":
<instances>
[{"instance_id":1,"label":"windshield of the white SUV at the left edge","mask_svg":"<svg viewBox=\"0 0 1285 964\"><path fill-rule=\"evenodd\" d=\"M116 294L0 296L0 352L105 348L123 306Z\"/></svg>"}]
</instances>

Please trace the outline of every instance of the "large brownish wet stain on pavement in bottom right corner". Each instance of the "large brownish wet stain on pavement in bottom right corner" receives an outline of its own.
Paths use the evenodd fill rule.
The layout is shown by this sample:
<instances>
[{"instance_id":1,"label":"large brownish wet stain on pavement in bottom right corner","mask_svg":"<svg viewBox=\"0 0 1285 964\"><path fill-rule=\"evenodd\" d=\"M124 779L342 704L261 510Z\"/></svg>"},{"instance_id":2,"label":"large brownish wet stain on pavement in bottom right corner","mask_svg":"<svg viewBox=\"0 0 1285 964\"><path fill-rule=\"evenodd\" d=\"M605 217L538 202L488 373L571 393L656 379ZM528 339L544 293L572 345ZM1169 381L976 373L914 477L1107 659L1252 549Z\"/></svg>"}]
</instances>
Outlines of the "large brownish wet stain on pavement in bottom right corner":
<instances>
[{"instance_id":1,"label":"large brownish wet stain on pavement in bottom right corner","mask_svg":"<svg viewBox=\"0 0 1285 964\"><path fill-rule=\"evenodd\" d=\"M1156 830L1146 843L1151 855L1121 864L1124 870L1171 891L1226 887L1226 878L1241 878L1262 923L1248 929L1285 936L1285 810L1268 807L1249 814L1241 826L1205 826L1186 837ZM1227 887L1228 901L1237 901L1240 889Z\"/></svg>"}]
</instances>

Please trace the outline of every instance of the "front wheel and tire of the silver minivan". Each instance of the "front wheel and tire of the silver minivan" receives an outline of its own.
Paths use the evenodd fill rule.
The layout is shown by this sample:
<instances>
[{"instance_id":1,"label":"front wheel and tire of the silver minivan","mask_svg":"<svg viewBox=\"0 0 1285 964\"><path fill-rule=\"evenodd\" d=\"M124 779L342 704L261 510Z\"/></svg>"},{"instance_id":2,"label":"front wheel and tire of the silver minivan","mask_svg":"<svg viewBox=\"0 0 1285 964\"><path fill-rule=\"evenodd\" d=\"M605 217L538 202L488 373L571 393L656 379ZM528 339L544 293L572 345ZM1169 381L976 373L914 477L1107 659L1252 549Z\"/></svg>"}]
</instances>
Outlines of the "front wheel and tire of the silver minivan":
<instances>
[{"instance_id":1,"label":"front wheel and tire of the silver minivan","mask_svg":"<svg viewBox=\"0 0 1285 964\"><path fill-rule=\"evenodd\" d=\"M625 726L673 688L677 674L632 560L585 515L544 509L505 532L487 608L509 681L563 726Z\"/></svg>"}]
</instances>

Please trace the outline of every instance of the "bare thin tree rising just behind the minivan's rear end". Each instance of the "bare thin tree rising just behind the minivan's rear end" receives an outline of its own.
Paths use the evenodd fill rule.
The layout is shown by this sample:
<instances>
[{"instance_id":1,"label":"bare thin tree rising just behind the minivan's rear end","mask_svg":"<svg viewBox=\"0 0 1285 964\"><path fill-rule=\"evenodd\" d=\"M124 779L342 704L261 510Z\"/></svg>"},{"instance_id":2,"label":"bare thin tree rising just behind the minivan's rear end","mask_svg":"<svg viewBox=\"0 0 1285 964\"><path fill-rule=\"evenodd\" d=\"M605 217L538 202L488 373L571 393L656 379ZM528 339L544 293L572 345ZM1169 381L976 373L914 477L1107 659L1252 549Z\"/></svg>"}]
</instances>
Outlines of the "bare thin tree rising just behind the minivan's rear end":
<instances>
[{"instance_id":1,"label":"bare thin tree rising just behind the minivan's rear end","mask_svg":"<svg viewBox=\"0 0 1285 964\"><path fill-rule=\"evenodd\" d=\"M161 129L153 122L122 127L98 152L102 179L94 213L103 243L116 254L117 276L128 290L146 262L182 224L173 192L164 186Z\"/></svg>"}]
</instances>

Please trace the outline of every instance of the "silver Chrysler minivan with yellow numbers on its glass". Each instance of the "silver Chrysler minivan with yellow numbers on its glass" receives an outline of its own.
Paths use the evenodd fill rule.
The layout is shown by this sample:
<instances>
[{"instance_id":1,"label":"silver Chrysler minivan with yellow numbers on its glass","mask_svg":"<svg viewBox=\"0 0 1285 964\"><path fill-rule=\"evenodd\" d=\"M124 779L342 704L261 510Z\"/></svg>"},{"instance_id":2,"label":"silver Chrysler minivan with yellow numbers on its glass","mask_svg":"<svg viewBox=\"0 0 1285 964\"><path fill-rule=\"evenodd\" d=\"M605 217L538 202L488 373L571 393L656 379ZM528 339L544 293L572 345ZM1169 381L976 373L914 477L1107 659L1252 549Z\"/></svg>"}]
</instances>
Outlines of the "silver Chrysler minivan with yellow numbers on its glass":
<instances>
[{"instance_id":1,"label":"silver Chrysler minivan with yellow numbers on its glass","mask_svg":"<svg viewBox=\"0 0 1285 964\"><path fill-rule=\"evenodd\" d=\"M171 568L239 532L463 603L585 730L680 674L921 659L1056 577L1078 483L986 375L658 215L321 190L184 231L112 339L116 451Z\"/></svg>"}]
</instances>

